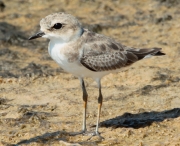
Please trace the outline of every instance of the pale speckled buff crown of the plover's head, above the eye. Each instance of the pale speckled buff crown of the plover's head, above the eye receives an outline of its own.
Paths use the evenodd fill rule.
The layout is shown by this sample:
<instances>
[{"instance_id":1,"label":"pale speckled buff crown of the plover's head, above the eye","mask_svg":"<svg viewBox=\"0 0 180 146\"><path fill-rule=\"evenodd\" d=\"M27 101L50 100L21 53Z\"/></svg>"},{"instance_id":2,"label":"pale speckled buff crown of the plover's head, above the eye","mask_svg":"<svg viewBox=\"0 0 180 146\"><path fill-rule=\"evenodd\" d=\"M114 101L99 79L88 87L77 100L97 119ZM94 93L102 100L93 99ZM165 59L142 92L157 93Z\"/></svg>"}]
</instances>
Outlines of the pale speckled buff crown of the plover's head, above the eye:
<instances>
[{"instance_id":1,"label":"pale speckled buff crown of the plover's head, above the eye","mask_svg":"<svg viewBox=\"0 0 180 146\"><path fill-rule=\"evenodd\" d=\"M45 27L45 28L50 28L55 23L80 25L78 19L76 19L74 16L62 12L50 14L40 21L41 27Z\"/></svg>"}]
</instances>

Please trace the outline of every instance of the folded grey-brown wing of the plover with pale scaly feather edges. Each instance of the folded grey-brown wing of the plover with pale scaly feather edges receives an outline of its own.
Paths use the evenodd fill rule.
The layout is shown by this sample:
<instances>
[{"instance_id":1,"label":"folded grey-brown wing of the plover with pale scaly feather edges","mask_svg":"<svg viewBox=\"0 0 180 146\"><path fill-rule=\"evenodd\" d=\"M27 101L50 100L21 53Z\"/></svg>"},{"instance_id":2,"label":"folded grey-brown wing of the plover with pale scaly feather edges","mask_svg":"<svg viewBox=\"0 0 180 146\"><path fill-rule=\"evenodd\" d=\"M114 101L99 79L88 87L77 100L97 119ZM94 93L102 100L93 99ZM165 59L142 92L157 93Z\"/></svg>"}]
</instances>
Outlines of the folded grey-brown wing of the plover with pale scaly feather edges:
<instances>
[{"instance_id":1,"label":"folded grey-brown wing of the plover with pale scaly feather edges","mask_svg":"<svg viewBox=\"0 0 180 146\"><path fill-rule=\"evenodd\" d=\"M80 62L86 68L92 71L115 70L138 60L136 55L113 39L94 32L84 33Z\"/></svg>"}]
</instances>

